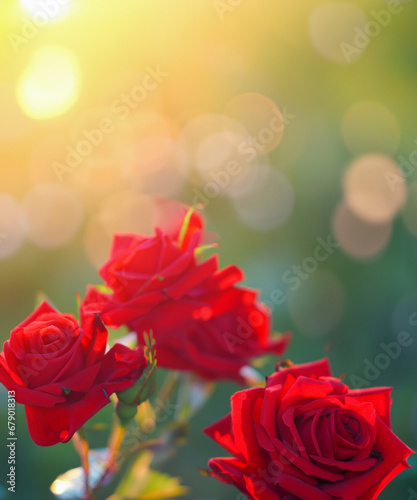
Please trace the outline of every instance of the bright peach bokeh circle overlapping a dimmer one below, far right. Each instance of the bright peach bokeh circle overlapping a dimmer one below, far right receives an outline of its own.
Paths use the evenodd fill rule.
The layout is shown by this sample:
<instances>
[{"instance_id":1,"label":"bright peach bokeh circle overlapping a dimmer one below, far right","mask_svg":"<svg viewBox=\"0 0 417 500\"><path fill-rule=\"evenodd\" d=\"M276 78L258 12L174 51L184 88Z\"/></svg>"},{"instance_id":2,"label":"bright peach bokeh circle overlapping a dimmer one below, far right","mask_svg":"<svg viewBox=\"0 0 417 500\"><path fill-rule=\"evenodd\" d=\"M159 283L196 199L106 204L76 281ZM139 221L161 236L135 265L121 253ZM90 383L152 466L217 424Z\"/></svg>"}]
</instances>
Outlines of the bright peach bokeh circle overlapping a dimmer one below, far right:
<instances>
[{"instance_id":1,"label":"bright peach bokeh circle overlapping a dimmer one below, far right","mask_svg":"<svg viewBox=\"0 0 417 500\"><path fill-rule=\"evenodd\" d=\"M407 198L400 168L385 155L357 158L346 171L343 187L350 210L370 224L391 221Z\"/></svg>"}]
</instances>

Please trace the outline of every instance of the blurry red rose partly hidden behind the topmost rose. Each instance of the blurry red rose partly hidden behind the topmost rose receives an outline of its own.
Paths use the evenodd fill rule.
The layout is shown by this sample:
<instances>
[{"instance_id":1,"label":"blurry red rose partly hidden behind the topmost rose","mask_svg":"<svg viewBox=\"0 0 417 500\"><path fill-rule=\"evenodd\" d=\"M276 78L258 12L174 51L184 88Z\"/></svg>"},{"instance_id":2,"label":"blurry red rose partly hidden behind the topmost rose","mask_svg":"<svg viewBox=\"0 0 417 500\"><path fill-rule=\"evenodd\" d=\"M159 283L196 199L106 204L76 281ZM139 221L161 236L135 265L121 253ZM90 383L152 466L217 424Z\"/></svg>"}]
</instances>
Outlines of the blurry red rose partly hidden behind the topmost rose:
<instances>
[{"instance_id":1,"label":"blurry red rose partly hidden behind the topmost rose","mask_svg":"<svg viewBox=\"0 0 417 500\"><path fill-rule=\"evenodd\" d=\"M159 366L243 383L240 370L250 359L267 352L282 354L290 335L269 339L269 311L257 302L254 290L234 286L241 279L242 272L229 266L128 326L139 339L152 329Z\"/></svg>"}]
</instances>

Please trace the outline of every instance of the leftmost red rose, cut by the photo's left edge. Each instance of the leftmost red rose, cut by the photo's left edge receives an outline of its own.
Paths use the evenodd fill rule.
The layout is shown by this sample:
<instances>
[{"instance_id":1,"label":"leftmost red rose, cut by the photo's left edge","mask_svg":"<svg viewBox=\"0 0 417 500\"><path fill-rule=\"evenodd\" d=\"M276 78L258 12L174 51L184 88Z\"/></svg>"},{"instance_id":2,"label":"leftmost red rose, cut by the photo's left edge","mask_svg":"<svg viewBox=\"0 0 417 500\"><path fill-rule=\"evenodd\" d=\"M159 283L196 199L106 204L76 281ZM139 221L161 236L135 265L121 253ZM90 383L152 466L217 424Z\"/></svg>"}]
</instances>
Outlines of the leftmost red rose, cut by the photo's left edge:
<instances>
[{"instance_id":1,"label":"leftmost red rose, cut by the photo's left edge","mask_svg":"<svg viewBox=\"0 0 417 500\"><path fill-rule=\"evenodd\" d=\"M116 344L105 353L106 342L98 316L83 315L80 326L46 302L12 330L0 353L0 382L25 405L36 444L67 442L111 394L141 376L142 349Z\"/></svg>"}]
</instances>

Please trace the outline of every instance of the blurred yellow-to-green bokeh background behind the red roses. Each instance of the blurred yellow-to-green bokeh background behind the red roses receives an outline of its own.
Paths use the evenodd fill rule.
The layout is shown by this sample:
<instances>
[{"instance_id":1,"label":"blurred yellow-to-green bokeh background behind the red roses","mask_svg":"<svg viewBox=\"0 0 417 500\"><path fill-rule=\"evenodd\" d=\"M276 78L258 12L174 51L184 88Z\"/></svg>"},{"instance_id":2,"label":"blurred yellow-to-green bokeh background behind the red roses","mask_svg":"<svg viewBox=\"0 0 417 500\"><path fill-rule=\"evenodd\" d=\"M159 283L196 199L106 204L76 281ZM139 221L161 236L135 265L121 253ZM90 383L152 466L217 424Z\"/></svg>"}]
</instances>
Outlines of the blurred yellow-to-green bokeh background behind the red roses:
<instances>
[{"instance_id":1,"label":"blurred yellow-to-green bokeh background behind the red roses","mask_svg":"<svg viewBox=\"0 0 417 500\"><path fill-rule=\"evenodd\" d=\"M410 334L372 384L394 387L393 428L417 449L416 2L51 0L49 9L0 5L1 340L38 291L74 312L75 292L100 281L112 234L152 232L154 195L203 202L221 265L241 266L274 329L293 331L294 362L329 356L352 385L380 362L382 342ZM317 254L323 240L333 247ZM236 389L217 386L163 467L192 488L190 500L236 496L198 472L223 455L201 428ZM1 387L2 436L6 405ZM18 410L16 496L52 498L49 485L77 455L70 444L34 445ZM380 498L412 498L411 488L415 470Z\"/></svg>"}]
</instances>

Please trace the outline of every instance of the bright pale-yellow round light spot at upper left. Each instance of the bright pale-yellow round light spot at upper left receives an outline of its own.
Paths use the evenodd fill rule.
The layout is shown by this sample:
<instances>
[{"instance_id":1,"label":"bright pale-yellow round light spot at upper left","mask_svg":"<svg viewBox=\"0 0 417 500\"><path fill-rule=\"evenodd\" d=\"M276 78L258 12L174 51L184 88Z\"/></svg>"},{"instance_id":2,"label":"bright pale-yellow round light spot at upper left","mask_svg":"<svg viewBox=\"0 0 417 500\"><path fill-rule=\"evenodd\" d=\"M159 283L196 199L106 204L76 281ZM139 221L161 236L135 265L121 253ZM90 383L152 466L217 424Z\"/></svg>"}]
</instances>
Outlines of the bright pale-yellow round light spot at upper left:
<instances>
[{"instance_id":1,"label":"bright pale-yellow round light spot at upper left","mask_svg":"<svg viewBox=\"0 0 417 500\"><path fill-rule=\"evenodd\" d=\"M44 120L64 114L76 102L80 87L74 54L57 45L38 49L21 75L17 98L25 114Z\"/></svg>"}]
</instances>

